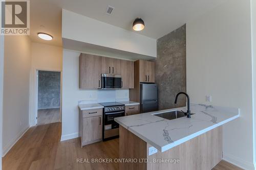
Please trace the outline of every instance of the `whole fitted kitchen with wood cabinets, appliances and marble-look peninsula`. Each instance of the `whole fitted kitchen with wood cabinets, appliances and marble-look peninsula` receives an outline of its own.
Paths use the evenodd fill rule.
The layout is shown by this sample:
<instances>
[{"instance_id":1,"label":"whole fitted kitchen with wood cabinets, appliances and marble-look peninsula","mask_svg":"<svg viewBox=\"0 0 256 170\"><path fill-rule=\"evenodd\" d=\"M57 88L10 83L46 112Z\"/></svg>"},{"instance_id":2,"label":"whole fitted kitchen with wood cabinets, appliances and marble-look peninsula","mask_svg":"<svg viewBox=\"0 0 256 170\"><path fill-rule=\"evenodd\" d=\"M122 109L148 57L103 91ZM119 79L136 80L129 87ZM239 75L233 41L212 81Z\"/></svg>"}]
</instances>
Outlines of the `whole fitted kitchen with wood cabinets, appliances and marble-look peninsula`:
<instances>
[{"instance_id":1,"label":"whole fitted kitchen with wood cabinets, appliances and marble-look peninsula","mask_svg":"<svg viewBox=\"0 0 256 170\"><path fill-rule=\"evenodd\" d=\"M107 60L110 61L105 62ZM151 155L158 153L158 150L163 154L158 155L154 159L163 159L166 157L169 159L177 157L181 159L182 154L185 153L196 155L195 159L190 160L190 162L185 162L181 159L179 162L180 167L177 166L176 163L169 163L167 165L164 163L157 163L157 165L152 165L151 163L142 161L139 163L120 162L120 169L169 169L178 167L181 169L212 169L222 160L222 125L238 118L239 109L193 104L191 106L192 111L190 111L189 96L185 92L180 92L176 95L175 104L177 104L179 95L185 94L187 97L187 108L182 107L158 110L157 85L154 84L155 77L152 76L155 75L155 62L145 60L137 60L135 62L122 61L119 59L87 54L80 54L79 62L80 88L101 88L102 90L121 89L123 88L123 84L126 85L132 81L137 85L133 85L132 83L131 86L125 87L130 88L130 98L133 97L133 91L135 91L134 99L138 100L138 102L112 101L98 104L86 104L88 101L85 101L86 103L84 103L84 101L79 101L79 138L81 147L95 142L111 140L120 136L119 159L153 160ZM109 63L109 65L105 66L105 63ZM126 66L120 63L126 63ZM105 74L105 72L108 74ZM127 74L114 75L114 72L116 74L126 72ZM136 76L137 79L134 79L134 75L138 75ZM131 80L127 81L126 76L130 77ZM94 82L98 82L98 84ZM92 84L94 84L94 86ZM183 111L183 109L186 111ZM164 119L159 119L157 116ZM177 122L175 122L176 119ZM169 120L169 122L166 122L166 120ZM167 123L167 126L160 126L160 122ZM161 129L164 128L164 126L164 129L166 129L166 127L169 127L172 124L173 126L170 130L163 130L163 132L161 132ZM143 128L144 126L146 127ZM180 130L173 132L175 129ZM186 131L188 131L188 133L186 133ZM152 136L151 133L156 134ZM165 142L158 141L161 136L158 136L157 134L162 133L164 140L166 140ZM173 134L169 135L169 133ZM179 134L182 134L183 136L180 136ZM207 136L202 137L205 134ZM137 137L135 137L135 135ZM179 136L177 141L173 139L173 136L175 135ZM140 139L138 139L138 137ZM199 138L200 144L191 142L195 140L195 138ZM203 143L209 142L207 138L215 138L217 140L203 146ZM147 149L144 151L143 148L145 144L142 144L143 142L147 142ZM157 142L162 144L155 144ZM185 142L191 143L189 143L189 147L186 148L181 155L175 155L177 152L175 150L168 151L174 147L177 149L177 147L180 147L181 144ZM168 145L172 145L172 147L168 147ZM153 146L156 146L157 149ZM129 150L131 147L134 147L135 151L130 152ZM203 151L197 153L193 148L199 148L199 150ZM212 149L212 151L210 151L210 153L205 153L206 148L207 150ZM145 155L143 155L143 152ZM167 152L170 152L170 155L168 155ZM172 152L174 152L174 155ZM200 162L200 159L197 159L197 157L206 157L205 161L211 163L198 163ZM197 162L199 165L191 167L193 162ZM185 167L185 165L189 166Z\"/></svg>"}]
</instances>

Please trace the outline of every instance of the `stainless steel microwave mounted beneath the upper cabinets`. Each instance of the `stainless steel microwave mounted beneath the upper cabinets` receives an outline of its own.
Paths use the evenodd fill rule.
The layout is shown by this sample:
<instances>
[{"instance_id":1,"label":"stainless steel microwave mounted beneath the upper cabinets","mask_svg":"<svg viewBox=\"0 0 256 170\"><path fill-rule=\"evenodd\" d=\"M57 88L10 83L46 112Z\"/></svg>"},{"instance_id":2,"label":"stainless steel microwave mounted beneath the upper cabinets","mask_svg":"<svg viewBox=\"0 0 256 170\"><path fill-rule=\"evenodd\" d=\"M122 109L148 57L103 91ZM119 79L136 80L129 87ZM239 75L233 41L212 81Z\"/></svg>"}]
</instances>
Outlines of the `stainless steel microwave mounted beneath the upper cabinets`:
<instances>
[{"instance_id":1,"label":"stainless steel microwave mounted beneath the upper cabinets","mask_svg":"<svg viewBox=\"0 0 256 170\"><path fill-rule=\"evenodd\" d=\"M120 75L101 74L101 89L122 88L122 78Z\"/></svg>"}]
</instances>

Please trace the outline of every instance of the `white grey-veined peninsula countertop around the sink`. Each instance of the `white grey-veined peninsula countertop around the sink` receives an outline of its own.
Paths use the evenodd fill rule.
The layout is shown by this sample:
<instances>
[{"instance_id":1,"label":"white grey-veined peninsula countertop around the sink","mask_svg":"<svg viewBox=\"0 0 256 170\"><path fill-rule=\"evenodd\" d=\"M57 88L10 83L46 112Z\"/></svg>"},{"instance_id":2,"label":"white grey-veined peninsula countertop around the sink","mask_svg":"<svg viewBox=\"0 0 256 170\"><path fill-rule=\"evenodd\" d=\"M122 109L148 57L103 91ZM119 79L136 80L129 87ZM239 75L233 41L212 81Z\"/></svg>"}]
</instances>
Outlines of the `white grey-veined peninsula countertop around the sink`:
<instances>
[{"instance_id":1,"label":"white grey-veined peninsula countertop around the sink","mask_svg":"<svg viewBox=\"0 0 256 170\"><path fill-rule=\"evenodd\" d=\"M191 118L164 119L154 114L173 110L186 111L186 107L135 114L115 118L131 131L161 152L221 126L239 117L239 109L191 104Z\"/></svg>"}]
</instances>

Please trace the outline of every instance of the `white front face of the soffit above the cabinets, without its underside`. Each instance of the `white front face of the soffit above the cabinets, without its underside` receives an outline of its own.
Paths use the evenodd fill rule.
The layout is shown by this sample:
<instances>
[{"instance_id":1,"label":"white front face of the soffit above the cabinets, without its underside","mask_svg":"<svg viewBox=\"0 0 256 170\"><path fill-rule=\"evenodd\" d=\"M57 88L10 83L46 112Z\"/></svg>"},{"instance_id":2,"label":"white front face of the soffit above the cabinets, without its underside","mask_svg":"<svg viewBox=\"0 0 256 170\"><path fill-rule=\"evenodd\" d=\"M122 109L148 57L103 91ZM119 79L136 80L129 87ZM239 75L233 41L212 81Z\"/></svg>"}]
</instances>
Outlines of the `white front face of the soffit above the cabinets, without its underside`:
<instances>
[{"instance_id":1,"label":"white front face of the soffit above the cabinets, without its underside","mask_svg":"<svg viewBox=\"0 0 256 170\"><path fill-rule=\"evenodd\" d=\"M62 9L62 38L157 57L156 39L65 9Z\"/></svg>"}]
</instances>

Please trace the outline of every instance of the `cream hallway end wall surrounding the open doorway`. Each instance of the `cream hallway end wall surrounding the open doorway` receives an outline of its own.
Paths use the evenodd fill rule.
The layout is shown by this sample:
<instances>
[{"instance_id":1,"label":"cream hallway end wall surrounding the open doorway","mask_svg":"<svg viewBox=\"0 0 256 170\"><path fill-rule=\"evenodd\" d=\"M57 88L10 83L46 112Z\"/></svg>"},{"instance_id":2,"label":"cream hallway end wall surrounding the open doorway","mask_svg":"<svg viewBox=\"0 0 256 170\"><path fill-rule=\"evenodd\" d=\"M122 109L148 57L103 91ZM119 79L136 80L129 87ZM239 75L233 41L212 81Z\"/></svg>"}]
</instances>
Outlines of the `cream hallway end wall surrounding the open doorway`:
<instances>
[{"instance_id":1,"label":"cream hallway end wall surrounding the open doorway","mask_svg":"<svg viewBox=\"0 0 256 170\"><path fill-rule=\"evenodd\" d=\"M62 71L62 47L36 42L31 43L31 126L35 125L37 111L36 70ZM60 85L60 89L62 89L62 84Z\"/></svg>"}]
</instances>

